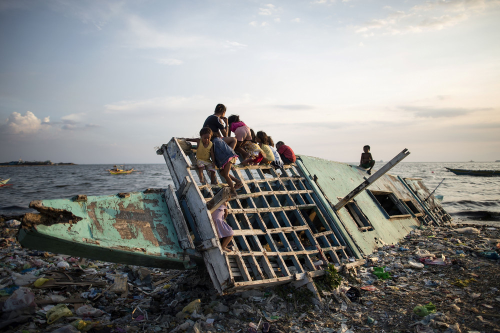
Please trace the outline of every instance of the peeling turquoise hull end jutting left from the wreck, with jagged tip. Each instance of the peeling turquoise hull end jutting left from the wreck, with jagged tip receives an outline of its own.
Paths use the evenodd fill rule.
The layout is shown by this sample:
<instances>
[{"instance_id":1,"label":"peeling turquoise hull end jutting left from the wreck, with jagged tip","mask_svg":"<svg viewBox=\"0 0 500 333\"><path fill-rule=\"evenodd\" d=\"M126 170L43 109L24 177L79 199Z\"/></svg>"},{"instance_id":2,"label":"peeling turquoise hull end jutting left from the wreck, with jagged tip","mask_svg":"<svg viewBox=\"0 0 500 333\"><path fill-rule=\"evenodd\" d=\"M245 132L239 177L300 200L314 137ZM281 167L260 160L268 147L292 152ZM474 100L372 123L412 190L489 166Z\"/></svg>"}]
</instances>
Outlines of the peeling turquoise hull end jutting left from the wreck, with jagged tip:
<instances>
[{"instance_id":1,"label":"peeling turquoise hull end jutting left from the wreck, with jagged tip","mask_svg":"<svg viewBox=\"0 0 500 333\"><path fill-rule=\"evenodd\" d=\"M173 189L32 201L40 214L25 214L17 239L28 248L110 262L191 268L193 246L182 248ZM170 201L170 207L167 204ZM177 203L175 203L177 202ZM183 232L179 229L180 232ZM199 260L198 260L199 261Z\"/></svg>"}]
</instances>

